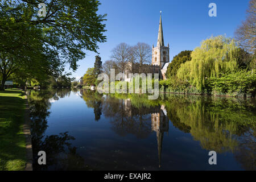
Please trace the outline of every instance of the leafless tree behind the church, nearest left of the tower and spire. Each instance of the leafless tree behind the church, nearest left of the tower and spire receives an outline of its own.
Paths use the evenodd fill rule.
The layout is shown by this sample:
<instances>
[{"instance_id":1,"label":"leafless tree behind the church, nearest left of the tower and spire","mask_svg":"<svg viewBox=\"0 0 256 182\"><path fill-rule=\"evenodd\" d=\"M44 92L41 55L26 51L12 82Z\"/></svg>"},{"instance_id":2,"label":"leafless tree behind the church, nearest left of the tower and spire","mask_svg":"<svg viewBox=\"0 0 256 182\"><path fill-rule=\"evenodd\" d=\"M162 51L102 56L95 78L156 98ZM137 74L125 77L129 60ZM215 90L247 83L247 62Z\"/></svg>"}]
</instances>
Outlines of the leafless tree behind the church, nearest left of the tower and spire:
<instances>
[{"instance_id":1,"label":"leafless tree behind the church, nearest left of the tower and spire","mask_svg":"<svg viewBox=\"0 0 256 182\"><path fill-rule=\"evenodd\" d=\"M151 61L151 47L146 43L138 42L133 47L135 62L139 63L139 73L142 71L143 64L149 64Z\"/></svg>"}]
</instances>

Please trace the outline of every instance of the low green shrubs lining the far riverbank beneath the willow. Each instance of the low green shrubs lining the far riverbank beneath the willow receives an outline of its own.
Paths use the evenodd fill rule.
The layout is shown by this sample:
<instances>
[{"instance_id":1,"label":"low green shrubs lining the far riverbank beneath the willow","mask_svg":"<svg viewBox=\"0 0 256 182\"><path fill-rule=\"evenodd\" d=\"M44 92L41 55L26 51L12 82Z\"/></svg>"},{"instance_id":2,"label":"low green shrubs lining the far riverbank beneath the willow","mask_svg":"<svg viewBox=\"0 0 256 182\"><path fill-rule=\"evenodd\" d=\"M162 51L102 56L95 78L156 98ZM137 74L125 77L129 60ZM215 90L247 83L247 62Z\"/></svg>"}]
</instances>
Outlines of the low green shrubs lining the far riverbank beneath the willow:
<instances>
[{"instance_id":1,"label":"low green shrubs lining the far riverbank beneath the willow","mask_svg":"<svg viewBox=\"0 0 256 182\"><path fill-rule=\"evenodd\" d=\"M241 70L218 78L206 78L201 91L188 81L161 80L159 82L159 91L213 96L255 97L256 73L254 71L246 72Z\"/></svg>"}]
</instances>

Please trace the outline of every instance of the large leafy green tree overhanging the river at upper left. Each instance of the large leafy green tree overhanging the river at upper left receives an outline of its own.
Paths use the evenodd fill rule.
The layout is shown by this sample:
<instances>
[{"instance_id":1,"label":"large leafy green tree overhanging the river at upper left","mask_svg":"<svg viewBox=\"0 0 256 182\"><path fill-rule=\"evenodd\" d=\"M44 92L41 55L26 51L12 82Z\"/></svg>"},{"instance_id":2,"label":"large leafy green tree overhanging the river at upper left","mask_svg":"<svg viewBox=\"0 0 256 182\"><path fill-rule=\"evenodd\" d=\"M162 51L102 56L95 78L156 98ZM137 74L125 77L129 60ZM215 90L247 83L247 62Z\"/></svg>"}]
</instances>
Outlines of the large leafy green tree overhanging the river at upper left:
<instances>
[{"instance_id":1,"label":"large leafy green tree overhanging the river at upper left","mask_svg":"<svg viewBox=\"0 0 256 182\"><path fill-rule=\"evenodd\" d=\"M43 1L46 16L41 17L39 3L42 1L0 1L0 54L7 55L7 59L1 59L2 82L16 70L36 74L30 67L40 68L34 62L43 61L45 56L48 58L44 75L59 74L65 63L75 71L77 61L85 57L85 49L97 52L97 43L106 41L102 24L105 15L97 14L98 1ZM4 67L9 71L5 72ZM27 75L32 76L31 73Z\"/></svg>"}]
</instances>

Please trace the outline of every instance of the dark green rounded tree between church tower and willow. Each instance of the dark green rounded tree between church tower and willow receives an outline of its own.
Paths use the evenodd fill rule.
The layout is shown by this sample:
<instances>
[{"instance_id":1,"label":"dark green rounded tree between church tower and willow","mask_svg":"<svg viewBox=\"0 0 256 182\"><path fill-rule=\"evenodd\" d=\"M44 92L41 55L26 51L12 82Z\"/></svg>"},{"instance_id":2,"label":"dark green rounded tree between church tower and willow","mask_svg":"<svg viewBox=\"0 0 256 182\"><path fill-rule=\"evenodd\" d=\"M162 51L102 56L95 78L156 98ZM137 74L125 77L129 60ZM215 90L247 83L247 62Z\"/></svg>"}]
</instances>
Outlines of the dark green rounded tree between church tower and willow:
<instances>
[{"instance_id":1,"label":"dark green rounded tree between church tower and willow","mask_svg":"<svg viewBox=\"0 0 256 182\"><path fill-rule=\"evenodd\" d=\"M174 56L174 59L172 59L171 63L167 67L167 78L175 77L180 65L191 60L191 52L192 51L181 51L178 55Z\"/></svg>"}]
</instances>

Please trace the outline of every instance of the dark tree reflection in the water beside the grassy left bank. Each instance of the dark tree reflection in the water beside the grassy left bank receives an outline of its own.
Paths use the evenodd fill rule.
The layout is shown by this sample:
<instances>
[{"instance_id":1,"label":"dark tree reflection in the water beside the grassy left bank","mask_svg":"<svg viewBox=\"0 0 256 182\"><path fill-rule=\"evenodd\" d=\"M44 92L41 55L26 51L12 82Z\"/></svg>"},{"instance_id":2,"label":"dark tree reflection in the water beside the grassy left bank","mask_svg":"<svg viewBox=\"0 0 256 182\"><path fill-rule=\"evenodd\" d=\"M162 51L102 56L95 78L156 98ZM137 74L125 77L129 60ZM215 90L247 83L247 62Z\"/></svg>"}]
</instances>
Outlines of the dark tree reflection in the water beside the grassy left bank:
<instances>
[{"instance_id":1,"label":"dark tree reflection in the water beside the grassy left bank","mask_svg":"<svg viewBox=\"0 0 256 182\"><path fill-rule=\"evenodd\" d=\"M35 91L27 90L28 102L30 104L31 137L33 150L34 170L88 170L84 159L76 153L76 147L71 146L74 137L68 132L59 135L45 136L47 129L47 117L50 112L51 101L59 100L69 96L71 90L48 90ZM65 148L68 150L65 150ZM45 151L47 154L47 165L38 164L38 152Z\"/></svg>"}]
</instances>

